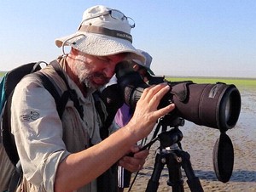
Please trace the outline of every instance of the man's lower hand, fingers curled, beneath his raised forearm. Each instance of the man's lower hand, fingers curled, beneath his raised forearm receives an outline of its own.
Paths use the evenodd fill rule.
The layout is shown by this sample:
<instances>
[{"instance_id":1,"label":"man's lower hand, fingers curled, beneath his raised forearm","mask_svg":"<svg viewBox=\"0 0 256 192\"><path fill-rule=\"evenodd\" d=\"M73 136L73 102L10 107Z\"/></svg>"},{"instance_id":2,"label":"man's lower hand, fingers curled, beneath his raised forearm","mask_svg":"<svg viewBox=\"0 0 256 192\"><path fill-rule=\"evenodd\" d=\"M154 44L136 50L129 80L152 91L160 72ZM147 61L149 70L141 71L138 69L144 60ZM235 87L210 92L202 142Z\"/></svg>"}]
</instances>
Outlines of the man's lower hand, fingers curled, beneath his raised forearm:
<instances>
[{"instance_id":1,"label":"man's lower hand, fingers curled, beneath his raised forearm","mask_svg":"<svg viewBox=\"0 0 256 192\"><path fill-rule=\"evenodd\" d=\"M148 150L140 151L140 146L131 147L131 155L126 155L119 160L119 166L124 167L130 172L137 172L143 168L148 156Z\"/></svg>"}]
</instances>

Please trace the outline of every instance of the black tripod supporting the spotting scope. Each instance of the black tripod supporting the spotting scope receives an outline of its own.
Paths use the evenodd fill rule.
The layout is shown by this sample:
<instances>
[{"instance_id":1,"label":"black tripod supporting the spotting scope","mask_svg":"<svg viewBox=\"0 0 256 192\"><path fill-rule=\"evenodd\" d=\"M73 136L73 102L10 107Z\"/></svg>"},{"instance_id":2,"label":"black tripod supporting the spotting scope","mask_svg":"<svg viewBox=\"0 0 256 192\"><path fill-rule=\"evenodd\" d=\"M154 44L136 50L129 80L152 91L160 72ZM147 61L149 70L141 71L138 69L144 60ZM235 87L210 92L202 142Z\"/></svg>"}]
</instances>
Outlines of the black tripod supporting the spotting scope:
<instances>
[{"instance_id":1,"label":"black tripod supporting the spotting scope","mask_svg":"<svg viewBox=\"0 0 256 192\"><path fill-rule=\"evenodd\" d=\"M154 161L154 171L148 180L146 192L156 192L159 186L159 179L162 169L168 168L169 180L167 184L172 186L173 192L183 192L183 179L181 167L188 178L187 183L191 192L203 192L199 178L195 177L195 172L191 166L190 155L182 150L180 141L183 133L178 129L184 125L182 118L167 118L164 116L160 119L156 128L158 132L162 127L162 133L158 135L160 141L160 152L157 153ZM166 131L167 127L173 127L170 131ZM156 133L156 132L155 132ZM155 140L155 139L154 139Z\"/></svg>"}]
</instances>

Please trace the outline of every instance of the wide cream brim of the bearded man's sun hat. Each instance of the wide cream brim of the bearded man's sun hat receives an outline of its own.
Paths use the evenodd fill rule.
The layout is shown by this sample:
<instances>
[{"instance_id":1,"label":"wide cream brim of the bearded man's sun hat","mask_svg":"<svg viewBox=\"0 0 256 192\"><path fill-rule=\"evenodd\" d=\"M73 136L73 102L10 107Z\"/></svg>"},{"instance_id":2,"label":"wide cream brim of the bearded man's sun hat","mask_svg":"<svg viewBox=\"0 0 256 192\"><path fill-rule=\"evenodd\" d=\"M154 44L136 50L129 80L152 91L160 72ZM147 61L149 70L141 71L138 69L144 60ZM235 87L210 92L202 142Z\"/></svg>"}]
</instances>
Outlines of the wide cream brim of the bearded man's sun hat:
<instances>
[{"instance_id":1,"label":"wide cream brim of the bearded man's sun hat","mask_svg":"<svg viewBox=\"0 0 256 192\"><path fill-rule=\"evenodd\" d=\"M108 56L120 53L129 53L128 59L139 59L144 62L145 57L134 48L131 42L96 33L76 32L67 37L55 39L57 47L71 46L84 54Z\"/></svg>"}]
</instances>

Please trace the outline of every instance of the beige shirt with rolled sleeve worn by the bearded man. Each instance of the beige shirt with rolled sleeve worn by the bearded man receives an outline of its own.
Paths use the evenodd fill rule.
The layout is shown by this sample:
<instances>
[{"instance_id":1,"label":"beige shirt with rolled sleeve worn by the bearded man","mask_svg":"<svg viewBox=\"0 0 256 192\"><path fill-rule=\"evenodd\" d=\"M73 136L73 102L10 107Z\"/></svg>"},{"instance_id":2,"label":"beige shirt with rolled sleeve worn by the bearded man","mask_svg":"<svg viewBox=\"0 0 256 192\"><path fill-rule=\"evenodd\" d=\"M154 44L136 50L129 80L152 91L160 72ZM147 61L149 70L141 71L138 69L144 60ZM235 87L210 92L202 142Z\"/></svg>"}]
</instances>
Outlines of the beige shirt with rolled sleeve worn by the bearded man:
<instances>
[{"instance_id":1,"label":"beige shirt with rolled sleeve worn by the bearded man","mask_svg":"<svg viewBox=\"0 0 256 192\"><path fill-rule=\"evenodd\" d=\"M65 88L60 76L51 67L44 70L58 87ZM82 120L73 106L67 102L60 119L55 99L32 76L26 76L15 88L12 102L12 133L15 135L20 162L30 191L54 191L55 173L58 164L70 153L78 152L101 141L102 126L96 113L92 94L85 98L75 83L67 77L84 108ZM59 91L60 91L59 90ZM78 191L96 191L96 181Z\"/></svg>"}]
</instances>

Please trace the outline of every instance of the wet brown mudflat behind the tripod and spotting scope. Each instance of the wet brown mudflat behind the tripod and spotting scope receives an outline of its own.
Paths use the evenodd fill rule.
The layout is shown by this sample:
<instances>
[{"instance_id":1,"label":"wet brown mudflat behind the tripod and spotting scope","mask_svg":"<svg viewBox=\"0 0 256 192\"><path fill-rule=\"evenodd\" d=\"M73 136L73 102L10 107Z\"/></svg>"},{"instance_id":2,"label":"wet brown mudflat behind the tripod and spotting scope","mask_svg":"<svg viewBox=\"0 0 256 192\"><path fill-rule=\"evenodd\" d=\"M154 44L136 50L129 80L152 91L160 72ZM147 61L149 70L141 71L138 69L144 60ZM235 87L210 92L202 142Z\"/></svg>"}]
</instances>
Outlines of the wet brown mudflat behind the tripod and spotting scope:
<instances>
[{"instance_id":1,"label":"wet brown mudflat behind the tripod and spotting scope","mask_svg":"<svg viewBox=\"0 0 256 192\"><path fill-rule=\"evenodd\" d=\"M232 140L235 155L229 182L218 181L212 164L213 146L220 134L218 129L198 126L190 121L185 121L185 125L179 127L183 133L181 141L183 150L189 153L195 176L200 179L201 186L206 192L256 191L256 89L240 88L240 92L241 114L239 120L236 127L226 132ZM159 146L158 142L152 145L143 170L138 173L131 191L143 192L147 188L148 179L154 170L155 151ZM189 192L183 169L182 173L184 190ZM132 174L132 177L134 175ZM172 188L166 184L168 178L169 173L165 166L159 179L158 191L172 191Z\"/></svg>"}]
</instances>

